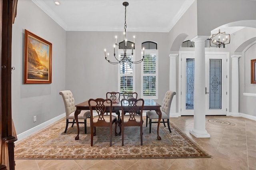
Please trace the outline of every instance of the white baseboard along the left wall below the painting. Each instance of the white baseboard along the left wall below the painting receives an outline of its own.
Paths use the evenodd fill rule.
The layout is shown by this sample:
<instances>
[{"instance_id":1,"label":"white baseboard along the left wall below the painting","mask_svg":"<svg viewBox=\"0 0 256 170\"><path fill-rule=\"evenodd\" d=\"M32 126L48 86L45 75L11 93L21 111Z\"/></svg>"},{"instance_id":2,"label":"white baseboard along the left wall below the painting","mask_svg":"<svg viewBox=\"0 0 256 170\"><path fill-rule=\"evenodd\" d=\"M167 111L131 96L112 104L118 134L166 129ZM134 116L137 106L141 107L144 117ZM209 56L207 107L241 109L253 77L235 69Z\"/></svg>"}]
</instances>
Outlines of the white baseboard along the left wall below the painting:
<instances>
[{"instance_id":1,"label":"white baseboard along the left wall below the painting","mask_svg":"<svg viewBox=\"0 0 256 170\"><path fill-rule=\"evenodd\" d=\"M22 133L18 134L17 135L18 140L16 140L16 142L18 142L19 140L22 140L23 138L26 138L30 134L33 134L34 132L36 132L36 131L38 131L38 130L40 130L42 128L47 127L48 125L51 125L52 123L62 119L63 117L66 117L66 113L63 113L63 114L61 114L61 115L59 115L57 117L54 117L54 118L50 119L49 121L46 121L46 122L44 122L44 123L42 123L40 125L37 125L36 127L33 127L33 128L31 128L29 130L26 130L25 132L22 132Z\"/></svg>"}]
</instances>

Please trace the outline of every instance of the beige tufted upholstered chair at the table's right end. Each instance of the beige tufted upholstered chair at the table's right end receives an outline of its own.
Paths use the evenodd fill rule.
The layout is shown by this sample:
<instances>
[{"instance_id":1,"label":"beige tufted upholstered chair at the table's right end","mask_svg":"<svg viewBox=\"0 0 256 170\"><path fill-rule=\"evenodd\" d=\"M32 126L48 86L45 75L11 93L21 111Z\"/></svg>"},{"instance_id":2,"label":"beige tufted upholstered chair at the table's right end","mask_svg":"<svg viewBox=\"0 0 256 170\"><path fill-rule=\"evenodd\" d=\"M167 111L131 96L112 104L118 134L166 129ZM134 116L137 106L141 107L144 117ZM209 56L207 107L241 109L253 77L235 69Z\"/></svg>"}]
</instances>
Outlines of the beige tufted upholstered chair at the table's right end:
<instances>
[{"instance_id":1,"label":"beige tufted upholstered chair at the table's right end","mask_svg":"<svg viewBox=\"0 0 256 170\"><path fill-rule=\"evenodd\" d=\"M160 123L164 123L164 127L166 127L164 119L167 119L167 125L168 125L170 132L172 132L170 129L170 123L169 123L170 107L171 107L172 98L174 95L176 95L176 92L166 91L166 93L164 95L164 99L163 99L163 105L161 107L163 121L161 121ZM158 123L157 121L154 121L154 122L152 121L152 119L158 119L158 115L156 114L156 111L147 111L146 112L146 127L148 127L148 119L149 119L149 133L151 133L151 124Z\"/></svg>"}]
</instances>

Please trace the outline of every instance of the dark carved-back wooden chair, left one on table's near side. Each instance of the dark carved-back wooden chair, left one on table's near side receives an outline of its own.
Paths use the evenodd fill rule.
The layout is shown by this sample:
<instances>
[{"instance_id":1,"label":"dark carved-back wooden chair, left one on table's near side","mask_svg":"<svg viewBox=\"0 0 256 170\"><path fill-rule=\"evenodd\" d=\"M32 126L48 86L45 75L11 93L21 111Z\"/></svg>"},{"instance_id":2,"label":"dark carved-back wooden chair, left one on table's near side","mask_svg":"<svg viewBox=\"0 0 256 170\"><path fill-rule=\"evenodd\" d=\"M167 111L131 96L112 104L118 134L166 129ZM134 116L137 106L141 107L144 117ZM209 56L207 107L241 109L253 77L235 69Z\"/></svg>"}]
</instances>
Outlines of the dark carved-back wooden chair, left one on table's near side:
<instances>
[{"instance_id":1,"label":"dark carved-back wooden chair, left one on table's near side","mask_svg":"<svg viewBox=\"0 0 256 170\"><path fill-rule=\"evenodd\" d=\"M91 146L93 146L93 136L96 135L96 127L109 127L110 146L112 146L112 125L115 123L115 135L117 136L116 127L118 120L115 116L112 116L112 100L111 99L89 99L90 117L91 117ZM109 115L106 113L106 104L108 103L110 110ZM92 108L92 106L94 108ZM93 116L93 110L97 112L96 116Z\"/></svg>"}]
</instances>

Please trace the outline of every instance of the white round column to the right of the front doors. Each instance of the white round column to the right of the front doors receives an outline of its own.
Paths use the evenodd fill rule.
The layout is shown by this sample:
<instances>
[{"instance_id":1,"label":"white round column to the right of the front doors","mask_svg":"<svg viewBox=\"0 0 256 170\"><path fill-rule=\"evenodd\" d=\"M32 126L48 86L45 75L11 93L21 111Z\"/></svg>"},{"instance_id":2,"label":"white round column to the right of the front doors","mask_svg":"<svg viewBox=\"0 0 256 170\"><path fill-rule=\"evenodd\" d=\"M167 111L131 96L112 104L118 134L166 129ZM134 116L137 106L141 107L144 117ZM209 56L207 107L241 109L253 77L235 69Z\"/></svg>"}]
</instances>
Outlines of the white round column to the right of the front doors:
<instances>
[{"instance_id":1,"label":"white round column to the right of the front doors","mask_svg":"<svg viewBox=\"0 0 256 170\"><path fill-rule=\"evenodd\" d=\"M231 55L232 58L232 81L231 81L231 116L240 117L238 112L239 105L239 72L238 58L242 55Z\"/></svg>"}]
</instances>

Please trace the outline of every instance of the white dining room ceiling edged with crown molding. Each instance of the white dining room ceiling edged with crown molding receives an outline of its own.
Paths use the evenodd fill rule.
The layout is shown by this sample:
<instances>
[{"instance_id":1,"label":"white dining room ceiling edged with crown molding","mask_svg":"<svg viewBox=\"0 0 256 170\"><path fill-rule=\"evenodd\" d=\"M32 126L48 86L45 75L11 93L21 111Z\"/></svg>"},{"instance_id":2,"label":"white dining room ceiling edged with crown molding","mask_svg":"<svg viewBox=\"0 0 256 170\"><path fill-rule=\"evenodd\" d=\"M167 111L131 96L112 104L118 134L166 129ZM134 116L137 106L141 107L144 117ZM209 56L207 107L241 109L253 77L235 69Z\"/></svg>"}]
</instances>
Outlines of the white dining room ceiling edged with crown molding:
<instances>
[{"instance_id":1,"label":"white dining room ceiling edged with crown molding","mask_svg":"<svg viewBox=\"0 0 256 170\"><path fill-rule=\"evenodd\" d=\"M32 0L66 31L124 31L125 0ZM127 0L126 31L169 32L194 0Z\"/></svg>"}]
</instances>

